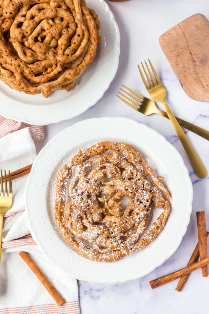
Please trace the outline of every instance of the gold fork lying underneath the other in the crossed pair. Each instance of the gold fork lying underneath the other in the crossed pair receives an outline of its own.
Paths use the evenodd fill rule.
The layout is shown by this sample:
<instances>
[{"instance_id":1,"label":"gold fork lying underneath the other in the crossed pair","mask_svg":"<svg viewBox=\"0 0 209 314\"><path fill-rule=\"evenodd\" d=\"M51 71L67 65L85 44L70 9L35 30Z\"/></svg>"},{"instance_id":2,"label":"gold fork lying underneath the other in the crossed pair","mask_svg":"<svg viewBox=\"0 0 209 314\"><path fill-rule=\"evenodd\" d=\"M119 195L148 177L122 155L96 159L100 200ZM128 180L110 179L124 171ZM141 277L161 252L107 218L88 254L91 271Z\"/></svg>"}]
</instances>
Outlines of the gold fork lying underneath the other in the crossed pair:
<instances>
[{"instance_id":1,"label":"gold fork lying underneath the other in the crossed pair","mask_svg":"<svg viewBox=\"0 0 209 314\"><path fill-rule=\"evenodd\" d=\"M121 100L123 100L123 102L125 102L128 106L130 106L133 109L143 113L146 116L150 116L153 113L158 113L160 116L164 116L165 118L169 119L169 117L165 111L158 109L154 100L151 100L149 98L146 98L146 97L140 95L139 93L135 92L133 89L130 89L123 84L122 84L122 86L125 89L128 89L129 92L131 92L132 94L137 96L137 97L135 97L135 96L131 95L130 93L128 93L126 90L120 88L126 95L124 95L121 92L118 92L118 93L129 101L125 100L124 98L120 97L119 95L117 95L117 96ZM130 96L131 98L127 97L127 95ZM185 127L187 130L190 130L191 132L196 133L197 135L199 135L199 136L201 136L201 137L203 137L209 141L209 131L207 131L201 127L198 127L194 124L191 124L190 122L184 121L180 118L177 118L177 117L175 117L175 118L179 122L180 126Z\"/></svg>"}]
</instances>

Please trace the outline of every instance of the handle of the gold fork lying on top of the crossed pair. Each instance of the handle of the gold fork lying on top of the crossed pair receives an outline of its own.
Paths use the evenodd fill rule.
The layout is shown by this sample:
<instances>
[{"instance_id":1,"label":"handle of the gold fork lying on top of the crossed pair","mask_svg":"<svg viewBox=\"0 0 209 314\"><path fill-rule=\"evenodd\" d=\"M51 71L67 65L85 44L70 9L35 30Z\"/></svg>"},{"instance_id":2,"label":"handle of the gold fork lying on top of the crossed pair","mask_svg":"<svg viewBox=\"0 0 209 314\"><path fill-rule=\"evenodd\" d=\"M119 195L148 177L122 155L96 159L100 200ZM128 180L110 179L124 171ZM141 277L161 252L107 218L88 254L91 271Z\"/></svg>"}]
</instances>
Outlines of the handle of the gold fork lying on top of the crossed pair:
<instances>
[{"instance_id":1,"label":"handle of the gold fork lying on top of the crossed pair","mask_svg":"<svg viewBox=\"0 0 209 314\"><path fill-rule=\"evenodd\" d=\"M170 110L169 106L167 105L166 101L161 101L161 103L163 104L163 106L165 107L165 110L169 116L170 121L172 122L175 131L181 141L181 144L183 145L185 152L187 154L187 156L189 157L189 160L197 174L197 176L199 176L200 178L205 178L207 175L207 170L205 168L205 166L203 165L203 163L201 162L199 156L197 155L196 151L194 150L193 146L191 145L190 141L188 140L188 138L186 137L184 131L182 130L182 128L180 127L178 121L176 120L174 114L172 113L172 111Z\"/></svg>"}]
</instances>

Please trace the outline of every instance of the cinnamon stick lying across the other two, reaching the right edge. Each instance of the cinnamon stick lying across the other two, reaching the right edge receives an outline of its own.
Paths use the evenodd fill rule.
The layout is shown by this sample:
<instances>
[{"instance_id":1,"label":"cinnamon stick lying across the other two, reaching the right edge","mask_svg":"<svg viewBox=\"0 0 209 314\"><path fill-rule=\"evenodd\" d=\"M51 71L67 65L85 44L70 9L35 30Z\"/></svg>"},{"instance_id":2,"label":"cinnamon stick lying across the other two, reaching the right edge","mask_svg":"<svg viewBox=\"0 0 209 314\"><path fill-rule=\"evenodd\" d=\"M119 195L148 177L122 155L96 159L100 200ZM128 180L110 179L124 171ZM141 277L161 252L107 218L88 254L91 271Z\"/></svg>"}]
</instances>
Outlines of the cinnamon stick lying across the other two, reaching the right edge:
<instances>
[{"instance_id":1,"label":"cinnamon stick lying across the other two, reaching the right edge","mask_svg":"<svg viewBox=\"0 0 209 314\"><path fill-rule=\"evenodd\" d=\"M194 270L201 268L209 263L209 257L206 257L202 259L201 261L198 261L196 263L193 263L189 266L186 266L185 268L182 268L180 270L177 270L173 273L170 273L166 276L160 277L158 279L152 280L149 282L152 289L157 288L159 286L162 286L163 284L167 284L170 281L173 281L177 278L180 278L188 273L193 272Z\"/></svg>"}]
</instances>

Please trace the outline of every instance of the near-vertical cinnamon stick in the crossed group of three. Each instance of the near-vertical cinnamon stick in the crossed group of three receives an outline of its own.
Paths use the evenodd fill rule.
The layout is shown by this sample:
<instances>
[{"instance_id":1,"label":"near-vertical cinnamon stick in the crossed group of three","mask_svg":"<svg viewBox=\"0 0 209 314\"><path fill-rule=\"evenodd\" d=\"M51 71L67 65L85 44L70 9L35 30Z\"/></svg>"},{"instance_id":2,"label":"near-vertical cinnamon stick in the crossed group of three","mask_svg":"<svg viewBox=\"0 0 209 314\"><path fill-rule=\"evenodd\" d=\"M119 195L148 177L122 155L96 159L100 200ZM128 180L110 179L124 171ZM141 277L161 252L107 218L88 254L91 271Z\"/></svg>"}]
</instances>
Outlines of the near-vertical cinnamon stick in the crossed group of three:
<instances>
[{"instance_id":1,"label":"near-vertical cinnamon stick in the crossed group of three","mask_svg":"<svg viewBox=\"0 0 209 314\"><path fill-rule=\"evenodd\" d=\"M198 230L198 242L200 250L200 259L207 257L207 231L205 222L205 212L196 212L197 216L197 230ZM208 277L208 267L205 265L202 267L202 277Z\"/></svg>"}]
</instances>

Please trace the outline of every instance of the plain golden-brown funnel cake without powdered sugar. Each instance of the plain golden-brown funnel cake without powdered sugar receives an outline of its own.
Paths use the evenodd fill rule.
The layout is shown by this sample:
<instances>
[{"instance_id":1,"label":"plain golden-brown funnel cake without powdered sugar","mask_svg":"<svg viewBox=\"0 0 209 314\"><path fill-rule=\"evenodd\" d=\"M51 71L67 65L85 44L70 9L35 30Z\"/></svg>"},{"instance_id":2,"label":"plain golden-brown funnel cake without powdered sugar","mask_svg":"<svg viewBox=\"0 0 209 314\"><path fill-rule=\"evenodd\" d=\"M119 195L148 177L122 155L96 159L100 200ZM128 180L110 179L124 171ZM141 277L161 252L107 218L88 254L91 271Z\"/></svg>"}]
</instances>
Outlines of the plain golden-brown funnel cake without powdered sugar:
<instances>
[{"instance_id":1,"label":"plain golden-brown funnel cake without powdered sugar","mask_svg":"<svg viewBox=\"0 0 209 314\"><path fill-rule=\"evenodd\" d=\"M0 0L0 79L26 94L70 91L101 41L84 0Z\"/></svg>"}]
</instances>

